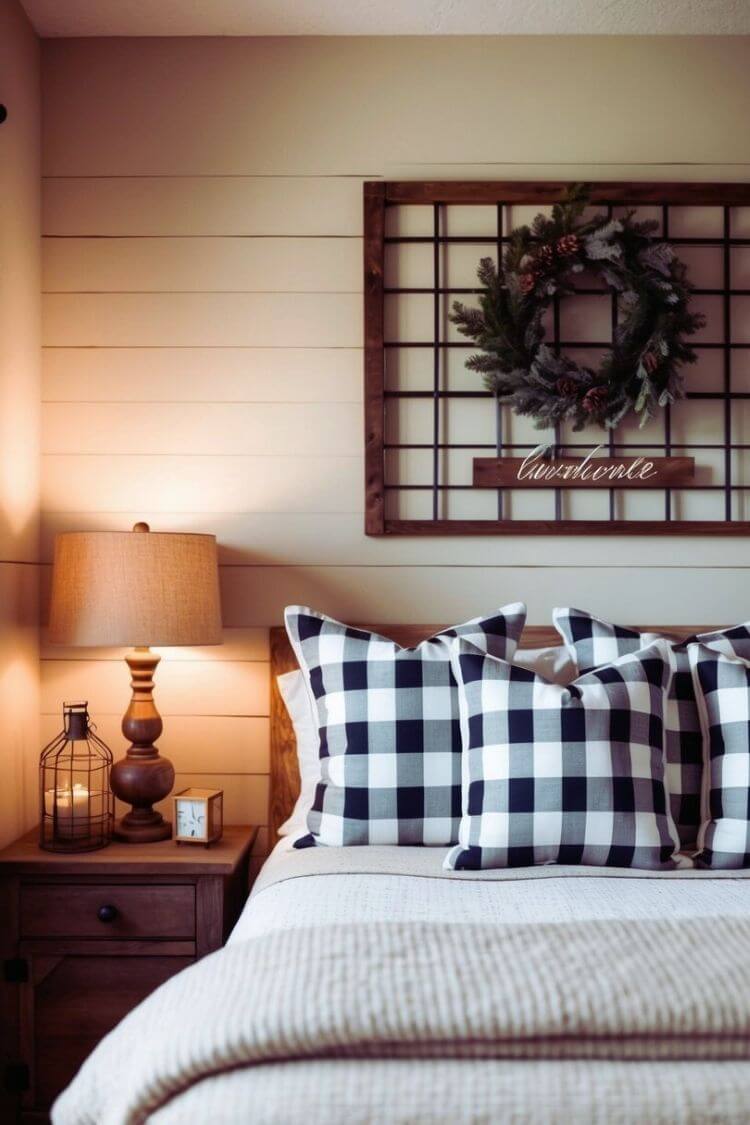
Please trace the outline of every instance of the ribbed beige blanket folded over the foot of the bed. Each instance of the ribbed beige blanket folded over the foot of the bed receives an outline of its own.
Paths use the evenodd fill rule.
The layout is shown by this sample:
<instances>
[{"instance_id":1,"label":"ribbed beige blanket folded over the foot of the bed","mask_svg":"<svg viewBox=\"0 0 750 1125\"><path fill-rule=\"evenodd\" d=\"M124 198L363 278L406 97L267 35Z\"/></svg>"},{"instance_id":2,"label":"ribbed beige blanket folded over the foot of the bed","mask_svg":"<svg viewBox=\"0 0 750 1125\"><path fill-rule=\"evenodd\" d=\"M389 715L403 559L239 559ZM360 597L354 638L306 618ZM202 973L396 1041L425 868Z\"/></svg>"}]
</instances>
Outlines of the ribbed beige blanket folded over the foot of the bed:
<instances>
[{"instance_id":1,"label":"ribbed beige blanket folded over the foot of the bed","mask_svg":"<svg viewBox=\"0 0 750 1125\"><path fill-rule=\"evenodd\" d=\"M524 1115L518 1090L533 1066L534 1104L549 1108L557 1090L568 1109L581 1090L570 1087L563 1097L563 1087L588 1068L587 1108L573 1117L580 1122L638 1120L631 1109L652 1122L747 1120L749 953L743 918L376 922L273 933L240 942L162 986L100 1044L58 1099L53 1120L356 1120L338 1113L347 1088L350 1100L359 1089L367 1108L378 1068L380 1080L382 1068L391 1069L396 1089L399 1074L404 1086L404 1063L417 1059L427 1060L424 1070L410 1068L419 1071L414 1091L424 1106L414 1104L410 1116L383 1110L379 1117L370 1105L359 1119L488 1120L505 1080L506 1119L555 1120L551 1113ZM685 971L689 964L695 971ZM441 1082L430 1101L423 1079L439 1061L444 1068L454 1060L470 1060L461 1072L472 1071L476 1081L457 1076L451 1097L462 1104L445 1116ZM524 1076L513 1095L507 1060L527 1061L513 1068ZM577 1062L561 1071L559 1060ZM641 1065L634 1060L647 1060L652 1071L660 1062L661 1109L648 1109L633 1071L625 1084L630 1102L617 1101L626 1061ZM275 1065L292 1061L283 1070ZM703 1092L690 1065L703 1071ZM215 1083L226 1072L217 1101ZM713 1073L721 1077L712 1080ZM620 1090L609 1100L607 1083ZM325 1113L300 1104L305 1089L327 1091ZM706 1100L712 1090L713 1102ZM680 1106L684 1112L672 1113Z\"/></svg>"}]
</instances>

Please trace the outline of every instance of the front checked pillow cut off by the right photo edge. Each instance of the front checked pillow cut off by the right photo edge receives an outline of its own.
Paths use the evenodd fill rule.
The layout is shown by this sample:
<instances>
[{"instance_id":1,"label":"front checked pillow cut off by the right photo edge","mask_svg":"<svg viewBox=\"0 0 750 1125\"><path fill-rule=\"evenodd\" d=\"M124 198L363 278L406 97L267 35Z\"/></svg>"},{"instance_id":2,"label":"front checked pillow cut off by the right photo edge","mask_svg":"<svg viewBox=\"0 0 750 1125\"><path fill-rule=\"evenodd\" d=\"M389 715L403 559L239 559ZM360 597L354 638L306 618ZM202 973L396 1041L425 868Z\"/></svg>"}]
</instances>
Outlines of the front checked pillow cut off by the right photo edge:
<instances>
[{"instance_id":1,"label":"front checked pillow cut off by the right photo edge","mask_svg":"<svg viewBox=\"0 0 750 1125\"><path fill-rule=\"evenodd\" d=\"M688 645L703 729L699 867L750 867L750 665Z\"/></svg>"}]
</instances>

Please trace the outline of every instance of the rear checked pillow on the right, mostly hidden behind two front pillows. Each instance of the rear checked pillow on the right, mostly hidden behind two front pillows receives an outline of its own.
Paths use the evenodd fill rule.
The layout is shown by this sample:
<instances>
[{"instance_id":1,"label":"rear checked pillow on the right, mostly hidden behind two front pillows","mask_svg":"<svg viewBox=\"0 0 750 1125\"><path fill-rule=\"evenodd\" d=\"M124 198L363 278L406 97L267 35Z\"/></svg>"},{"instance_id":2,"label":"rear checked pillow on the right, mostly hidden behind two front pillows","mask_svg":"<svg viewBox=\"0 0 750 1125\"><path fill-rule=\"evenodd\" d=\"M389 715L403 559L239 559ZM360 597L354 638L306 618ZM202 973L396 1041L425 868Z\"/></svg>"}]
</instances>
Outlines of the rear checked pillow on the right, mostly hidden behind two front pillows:
<instances>
[{"instance_id":1,"label":"rear checked pillow on the right, mostly hidden behind two front pillows","mask_svg":"<svg viewBox=\"0 0 750 1125\"><path fill-rule=\"evenodd\" d=\"M552 619L579 674L602 664L611 664L626 652L635 652L662 639L659 633L613 626L585 610L553 610ZM747 624L701 633L689 640L708 645L728 656L750 659L750 628ZM680 645L669 642L672 676L665 709L665 753L671 813L683 847L693 848L701 825L703 749L687 644L688 641Z\"/></svg>"}]
</instances>

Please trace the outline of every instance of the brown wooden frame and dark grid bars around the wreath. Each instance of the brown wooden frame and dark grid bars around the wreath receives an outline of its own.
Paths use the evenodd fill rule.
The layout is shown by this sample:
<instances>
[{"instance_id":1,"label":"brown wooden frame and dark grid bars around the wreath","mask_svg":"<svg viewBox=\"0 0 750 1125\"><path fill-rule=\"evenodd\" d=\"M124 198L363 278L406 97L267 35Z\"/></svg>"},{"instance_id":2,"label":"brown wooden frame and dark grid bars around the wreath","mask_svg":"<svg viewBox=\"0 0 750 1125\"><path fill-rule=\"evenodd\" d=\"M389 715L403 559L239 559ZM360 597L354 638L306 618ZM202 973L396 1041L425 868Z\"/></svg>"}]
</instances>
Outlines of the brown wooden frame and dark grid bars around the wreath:
<instances>
[{"instance_id":1,"label":"brown wooden frame and dark grid bars around the wreath","mask_svg":"<svg viewBox=\"0 0 750 1125\"><path fill-rule=\"evenodd\" d=\"M503 442L503 412L508 407L497 407L497 440L494 456L473 458L472 479L461 484L444 484L441 480L440 458L449 442L441 442L441 406L445 398L486 397L488 410L493 408L493 395L481 388L477 375L476 390L451 390L442 386L443 356L448 348L466 348L467 356L475 345L471 342L448 342L441 338L441 322L444 315L443 297L449 294L467 294L478 290L451 289L441 285L441 249L450 243L487 244L493 243L499 258L503 245L507 241L504 231L505 209L512 206L546 207L561 199L568 184L562 182L498 182L498 181L368 181L364 183L364 429L365 429L365 533L368 536L495 536L495 534L701 534L740 536L750 532L750 521L733 518L733 497L735 494L750 494L750 483L738 484L733 479L733 457L737 451L750 456L750 443L733 441L732 406L750 399L750 381L747 388L738 389L732 380L732 358L741 349L750 349L750 342L734 342L732 338L732 299L750 297L750 288L732 286L732 250L737 246L750 248L750 237L737 237L732 228L732 208L750 207L750 183L629 183L600 182L590 184L589 200L591 205L604 206L608 213L613 208L625 206L658 208L661 217L660 241L672 245L703 245L719 248L722 253L722 284L712 288L696 286L696 295L712 295L721 302L722 339L714 342L696 342L692 345L699 353L702 349L720 350L722 353L721 388L704 392L689 389L689 368L686 369L686 398L714 399L721 404L721 424L719 433L712 436L710 443L690 442L683 446L671 439L670 407L665 407L663 439L650 441L648 447L639 452L638 443L618 442L616 431L587 429L581 433L581 440L573 444L561 439L558 430L551 441L553 446L553 465L560 472L554 485L546 482L519 479L519 468L524 458L532 454L533 446L518 446ZM488 231L485 236L450 236L444 233L444 210L455 205L484 206L491 205L497 216L496 230ZM432 209L432 234L428 235L390 235L387 231L386 215L389 208L404 206L421 206ZM712 207L721 208L722 232L711 237L670 237L669 214L671 207ZM426 243L432 249L431 285L424 288L399 288L386 285L386 251L389 245L399 243ZM750 253L750 251L749 251ZM479 259L479 254L478 254ZM386 298L401 294L427 294L433 299L433 339L419 341L391 341L386 336ZM615 323L615 298L613 304L613 324ZM559 336L559 307L555 300L553 346L559 351L566 342ZM750 304L749 304L750 309ZM748 334L750 340L750 334ZM595 343L576 341L571 346L599 348L608 346L608 341ZM427 348L432 351L433 385L430 389L400 389L388 385L387 353L391 348ZM475 348L476 350L476 348ZM408 398L427 398L432 400L432 441L409 446L408 443L389 442L386 425L387 412L394 400ZM677 404L676 408L679 408ZM545 431L540 431L539 442L545 440ZM659 454L653 454L654 447ZM391 519L388 514L387 494L389 490L408 490L415 486L387 478L387 452L390 449L419 448L427 449L432 456L432 483L416 487L427 489L432 494L432 519ZM466 448L466 447L463 447ZM477 444L477 450L485 446ZM723 465L723 483L694 483L694 459L683 456L683 449L699 451L702 448L717 453ZM569 451L575 449L575 457ZM586 449L595 450L596 458L579 456ZM650 452L643 452L648 449ZM604 452L604 457L602 453ZM584 460L591 462L600 472L596 482L580 478L580 467ZM623 465L630 469L627 474ZM568 466L567 479L561 479L561 470ZM578 468L579 472L570 476L570 470ZM607 468L611 470L607 474ZM528 476L528 461L524 470ZM523 476L523 472L522 472ZM750 472L743 477L750 482ZM551 495L554 514L550 519L509 519L504 512L504 494L508 489L543 488L545 495ZM491 488L497 492L497 519L445 519L441 514L441 494L450 488ZM563 519L562 493L566 489L597 488L608 494L608 519ZM620 488L661 489L663 493L662 519L620 519L616 518L616 490ZM676 507L672 489L688 490L695 488L702 492L722 492L721 497L724 518L713 520L681 520L674 518ZM750 501L750 496L748 496Z\"/></svg>"}]
</instances>

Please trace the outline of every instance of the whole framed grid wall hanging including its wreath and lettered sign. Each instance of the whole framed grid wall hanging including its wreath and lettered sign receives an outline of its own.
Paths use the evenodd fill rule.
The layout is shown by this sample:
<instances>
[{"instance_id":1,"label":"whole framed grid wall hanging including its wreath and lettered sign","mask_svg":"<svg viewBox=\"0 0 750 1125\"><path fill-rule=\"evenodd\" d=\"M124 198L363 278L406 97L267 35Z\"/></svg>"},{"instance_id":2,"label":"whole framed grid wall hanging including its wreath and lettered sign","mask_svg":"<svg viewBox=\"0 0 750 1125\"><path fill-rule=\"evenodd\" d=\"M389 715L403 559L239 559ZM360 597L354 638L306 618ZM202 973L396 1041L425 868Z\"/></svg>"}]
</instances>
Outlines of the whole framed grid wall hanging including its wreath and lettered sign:
<instances>
[{"instance_id":1,"label":"whole framed grid wall hanging including its wreath and lettered sign","mask_svg":"<svg viewBox=\"0 0 750 1125\"><path fill-rule=\"evenodd\" d=\"M368 534L750 531L750 184L368 182L364 313Z\"/></svg>"}]
</instances>

